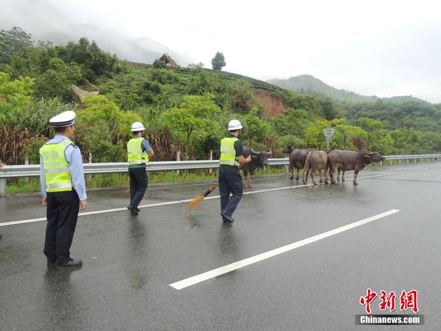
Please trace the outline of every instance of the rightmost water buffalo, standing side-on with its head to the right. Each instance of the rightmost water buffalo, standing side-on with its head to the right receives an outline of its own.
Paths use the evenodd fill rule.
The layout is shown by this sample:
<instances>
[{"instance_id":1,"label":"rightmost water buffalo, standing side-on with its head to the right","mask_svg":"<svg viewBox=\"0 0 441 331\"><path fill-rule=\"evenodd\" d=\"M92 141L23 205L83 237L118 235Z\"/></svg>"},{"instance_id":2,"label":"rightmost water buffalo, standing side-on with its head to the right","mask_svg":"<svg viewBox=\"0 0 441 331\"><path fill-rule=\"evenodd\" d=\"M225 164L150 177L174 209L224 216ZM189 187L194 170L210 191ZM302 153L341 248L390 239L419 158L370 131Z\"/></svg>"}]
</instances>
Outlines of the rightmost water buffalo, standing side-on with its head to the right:
<instances>
[{"instance_id":1,"label":"rightmost water buffalo, standing side-on with its head to the right","mask_svg":"<svg viewBox=\"0 0 441 331\"><path fill-rule=\"evenodd\" d=\"M347 170L353 170L353 185L358 185L357 175L360 170L363 170L366 165L372 162L383 161L378 152L354 152L352 150L331 150L328 154L329 163L329 176L331 177L331 183L336 183L336 172L343 171L343 174Z\"/></svg>"}]
</instances>

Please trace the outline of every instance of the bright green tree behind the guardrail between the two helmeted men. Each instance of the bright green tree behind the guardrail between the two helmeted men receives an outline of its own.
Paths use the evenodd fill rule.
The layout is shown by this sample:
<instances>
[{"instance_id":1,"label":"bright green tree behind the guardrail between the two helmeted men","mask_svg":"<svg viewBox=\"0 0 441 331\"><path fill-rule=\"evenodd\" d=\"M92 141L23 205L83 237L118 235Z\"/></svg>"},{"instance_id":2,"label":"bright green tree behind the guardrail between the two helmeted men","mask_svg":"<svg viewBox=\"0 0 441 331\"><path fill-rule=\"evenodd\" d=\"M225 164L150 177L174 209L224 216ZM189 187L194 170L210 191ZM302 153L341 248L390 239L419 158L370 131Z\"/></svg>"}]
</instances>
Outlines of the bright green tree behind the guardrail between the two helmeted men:
<instances>
[{"instance_id":1,"label":"bright green tree behind the guardrail between the two helmeted men","mask_svg":"<svg viewBox=\"0 0 441 331\"><path fill-rule=\"evenodd\" d=\"M215 120L220 108L213 99L214 95L209 93L186 95L180 106L163 112L163 121L172 131L174 139L183 147L186 159L192 154L194 141L203 141L220 132L219 124Z\"/></svg>"}]
</instances>

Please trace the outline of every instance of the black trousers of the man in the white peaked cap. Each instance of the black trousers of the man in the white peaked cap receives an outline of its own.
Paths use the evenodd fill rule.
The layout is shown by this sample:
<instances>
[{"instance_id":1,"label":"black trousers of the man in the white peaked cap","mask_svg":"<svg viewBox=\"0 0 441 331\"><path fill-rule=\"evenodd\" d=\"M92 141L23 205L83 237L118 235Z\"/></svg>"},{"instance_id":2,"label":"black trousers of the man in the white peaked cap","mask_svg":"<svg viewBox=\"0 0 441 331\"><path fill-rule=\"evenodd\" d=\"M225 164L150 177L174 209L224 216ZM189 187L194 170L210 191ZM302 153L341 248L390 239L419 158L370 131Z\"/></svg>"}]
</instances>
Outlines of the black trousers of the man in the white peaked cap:
<instances>
[{"instance_id":1,"label":"black trousers of the man in the white peaked cap","mask_svg":"<svg viewBox=\"0 0 441 331\"><path fill-rule=\"evenodd\" d=\"M70 261L70 245L74 239L80 199L75 190L48 192L46 208L46 238L44 254L48 262L59 264Z\"/></svg>"}]
</instances>

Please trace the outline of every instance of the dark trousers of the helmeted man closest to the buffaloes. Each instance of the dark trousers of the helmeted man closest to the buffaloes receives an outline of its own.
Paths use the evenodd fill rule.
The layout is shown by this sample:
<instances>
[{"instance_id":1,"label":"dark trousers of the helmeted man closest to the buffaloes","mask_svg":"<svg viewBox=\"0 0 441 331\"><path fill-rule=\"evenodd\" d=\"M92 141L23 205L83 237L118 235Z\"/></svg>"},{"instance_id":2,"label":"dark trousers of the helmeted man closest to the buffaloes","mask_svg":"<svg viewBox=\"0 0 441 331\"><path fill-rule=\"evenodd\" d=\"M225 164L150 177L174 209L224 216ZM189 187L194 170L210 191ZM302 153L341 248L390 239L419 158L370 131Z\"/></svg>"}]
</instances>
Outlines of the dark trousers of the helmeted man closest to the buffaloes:
<instances>
[{"instance_id":1,"label":"dark trousers of the helmeted man closest to the buffaloes","mask_svg":"<svg viewBox=\"0 0 441 331\"><path fill-rule=\"evenodd\" d=\"M243 196L243 181L236 167L219 166L219 192L220 211L232 216Z\"/></svg>"}]
</instances>

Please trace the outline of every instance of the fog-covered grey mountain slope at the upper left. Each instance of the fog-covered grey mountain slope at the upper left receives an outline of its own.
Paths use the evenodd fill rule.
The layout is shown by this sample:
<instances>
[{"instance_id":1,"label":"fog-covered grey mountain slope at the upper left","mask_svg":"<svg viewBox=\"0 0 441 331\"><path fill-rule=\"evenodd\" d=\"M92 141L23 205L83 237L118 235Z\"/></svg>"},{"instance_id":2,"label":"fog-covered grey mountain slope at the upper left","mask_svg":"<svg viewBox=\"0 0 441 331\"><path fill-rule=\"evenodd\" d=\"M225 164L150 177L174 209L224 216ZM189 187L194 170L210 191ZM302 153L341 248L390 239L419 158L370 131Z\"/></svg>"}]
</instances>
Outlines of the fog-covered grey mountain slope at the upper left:
<instances>
[{"instance_id":1,"label":"fog-covered grey mountain slope at the upper left","mask_svg":"<svg viewBox=\"0 0 441 331\"><path fill-rule=\"evenodd\" d=\"M55 4L48 0L8 1L6 5L1 5L0 29L9 30L19 26L32 34L35 41L51 41L54 44L87 37L96 41L103 50L129 61L152 63L166 52L181 66L192 62L153 39L132 38L129 33L116 32L112 22L81 10L66 13L66 8L62 6L62 3Z\"/></svg>"}]
</instances>

